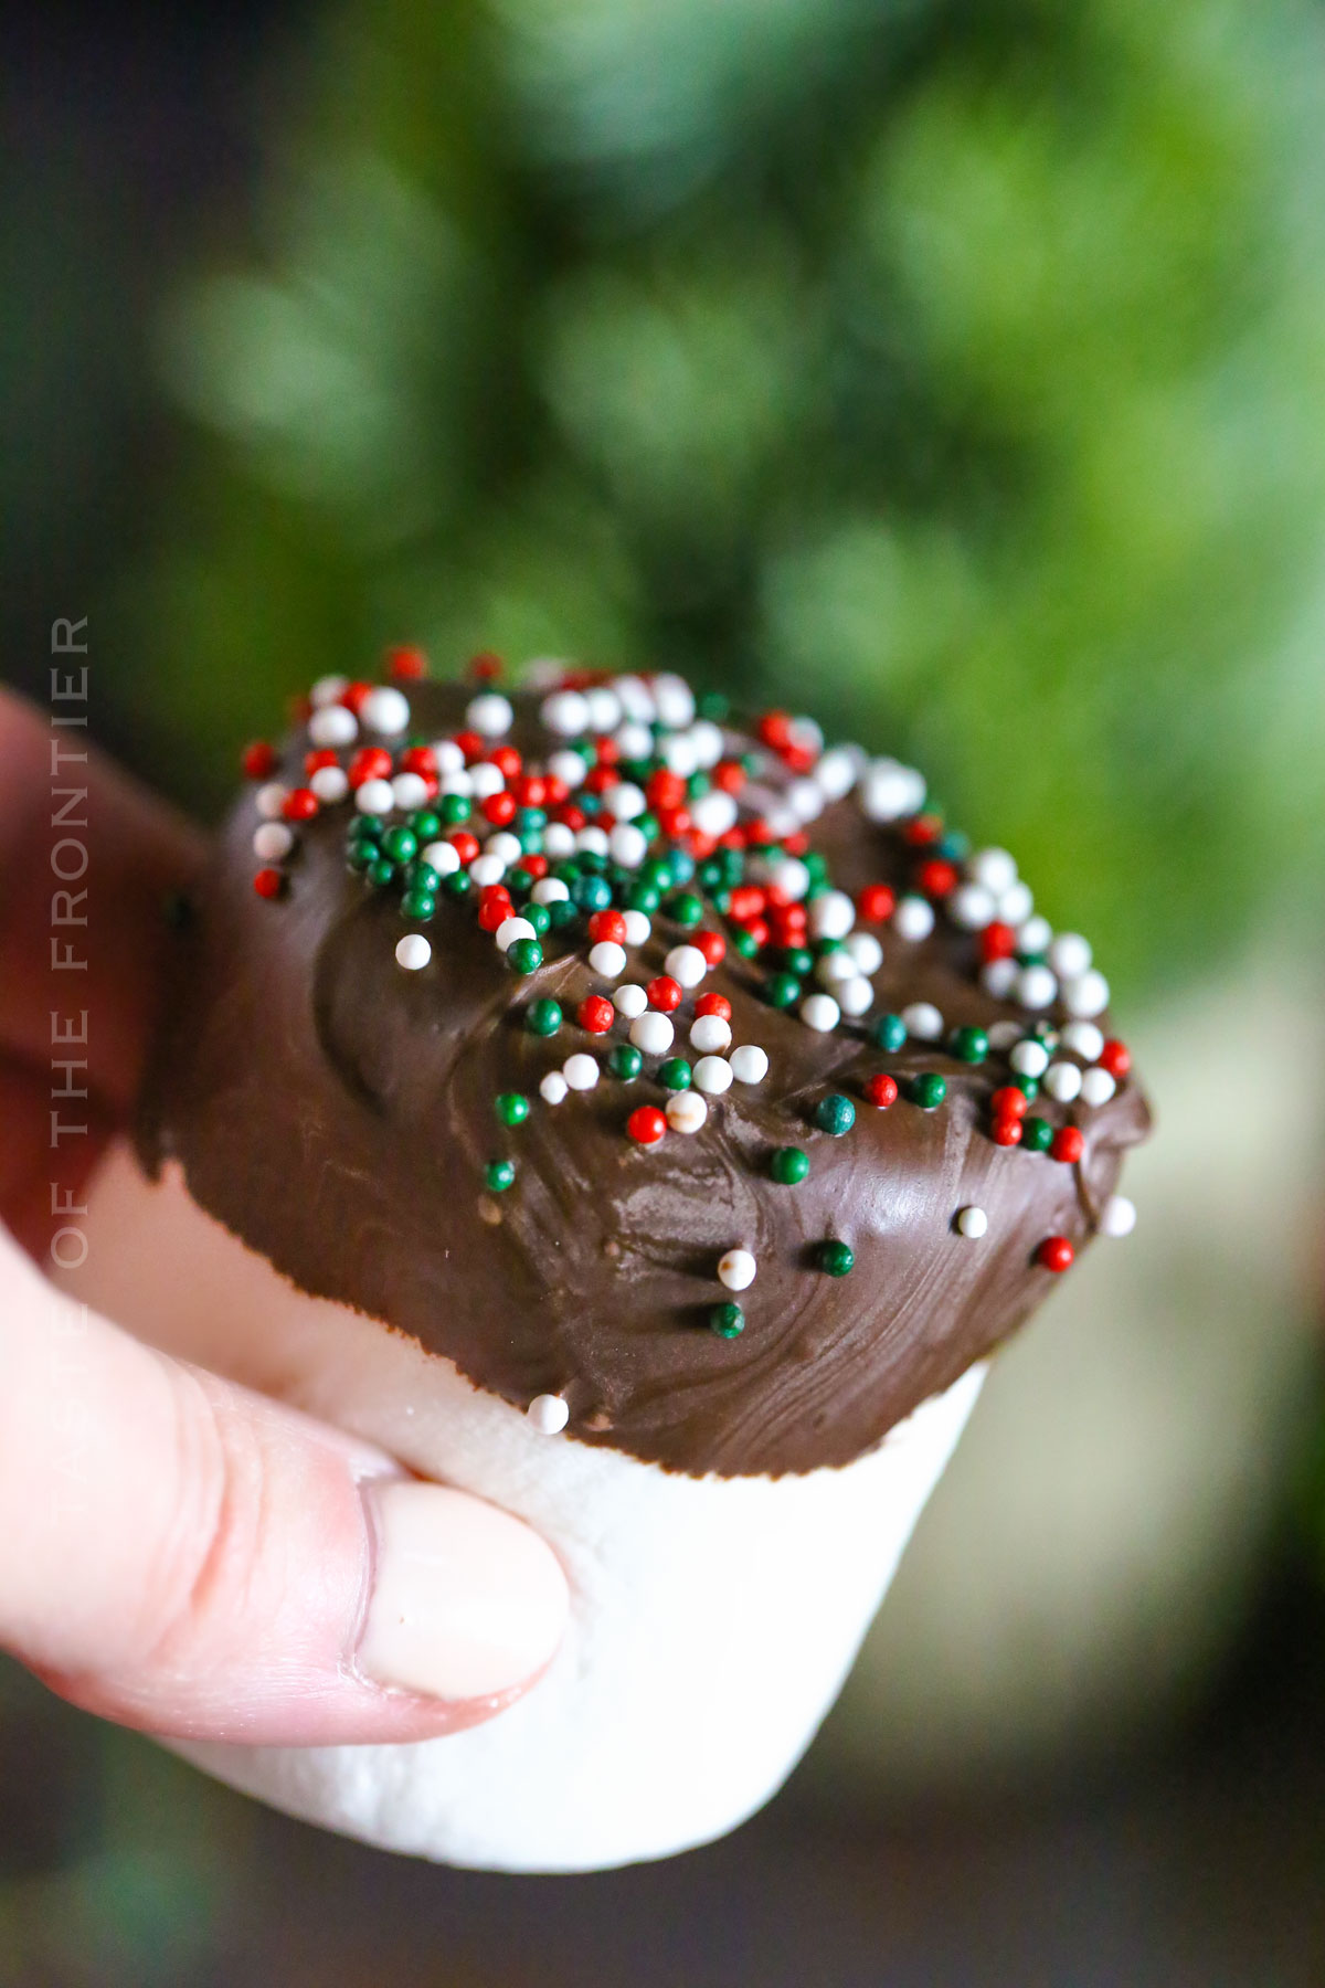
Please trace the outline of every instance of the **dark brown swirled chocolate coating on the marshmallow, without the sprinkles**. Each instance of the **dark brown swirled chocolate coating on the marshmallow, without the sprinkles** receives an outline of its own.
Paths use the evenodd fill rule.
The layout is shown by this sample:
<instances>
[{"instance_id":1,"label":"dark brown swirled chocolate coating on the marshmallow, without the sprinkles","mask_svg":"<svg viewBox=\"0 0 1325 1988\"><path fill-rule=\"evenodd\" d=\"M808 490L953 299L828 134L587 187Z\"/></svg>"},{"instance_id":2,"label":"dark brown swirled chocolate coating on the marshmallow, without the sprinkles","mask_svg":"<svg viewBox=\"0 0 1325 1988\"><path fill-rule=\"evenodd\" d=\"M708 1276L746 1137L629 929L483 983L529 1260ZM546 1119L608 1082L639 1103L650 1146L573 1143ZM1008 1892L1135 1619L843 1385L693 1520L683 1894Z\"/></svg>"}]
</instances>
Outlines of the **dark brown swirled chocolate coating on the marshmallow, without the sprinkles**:
<instances>
[{"instance_id":1,"label":"dark brown swirled chocolate coating on the marshmallow, without the sprinkles","mask_svg":"<svg viewBox=\"0 0 1325 1988\"><path fill-rule=\"evenodd\" d=\"M405 688L427 738L459 730L473 696ZM515 704L515 744L546 753L556 742L538 700ZM280 777L300 781L306 749L300 728ZM179 1159L197 1203L302 1290L409 1334L518 1408L562 1394L572 1439L691 1475L852 1461L1039 1304L1055 1282L1039 1242L1089 1241L1122 1149L1146 1133L1128 1079L1097 1109L1035 1103L1055 1125L1081 1125L1079 1165L999 1147L989 1095L1007 1081L1005 1056L971 1068L930 1044L884 1054L866 1022L814 1034L767 1006L763 970L729 950L703 990L731 1000L733 1044L761 1044L769 1076L709 1099L697 1135L644 1149L624 1123L634 1105L663 1101L654 1060L634 1083L604 1074L556 1107L538 1099L572 1050L610 1046L574 1026L574 1004L602 986L582 938L550 934L544 966L516 980L473 907L443 897L431 964L401 972L399 901L348 871L350 819L340 805L302 825L288 891L266 903L252 891L252 793L234 807L179 934L139 1155L153 1173ZM854 793L810 841L846 891L910 875L914 851L866 821ZM660 972L683 936L658 916L626 978ZM989 998L975 938L942 916L922 944L888 926L880 936L874 1016L930 1000L950 1030L1029 1020ZM522 1026L540 994L568 1010L550 1040ZM687 996L677 1052L691 1014ZM888 1111L860 1097L878 1070L902 1083ZM948 1079L936 1111L906 1097L906 1076L922 1070ZM507 1131L493 1099L511 1089L534 1107ZM812 1125L824 1089L856 1099L844 1137ZM810 1155L799 1187L769 1177L781 1145ZM518 1177L493 1195L485 1163L501 1153ZM969 1203L989 1217L981 1241L956 1229ZM814 1266L828 1237L852 1246L850 1276ZM727 1298L715 1264L733 1246L753 1250L759 1274L741 1296L745 1332L723 1340L705 1320Z\"/></svg>"}]
</instances>

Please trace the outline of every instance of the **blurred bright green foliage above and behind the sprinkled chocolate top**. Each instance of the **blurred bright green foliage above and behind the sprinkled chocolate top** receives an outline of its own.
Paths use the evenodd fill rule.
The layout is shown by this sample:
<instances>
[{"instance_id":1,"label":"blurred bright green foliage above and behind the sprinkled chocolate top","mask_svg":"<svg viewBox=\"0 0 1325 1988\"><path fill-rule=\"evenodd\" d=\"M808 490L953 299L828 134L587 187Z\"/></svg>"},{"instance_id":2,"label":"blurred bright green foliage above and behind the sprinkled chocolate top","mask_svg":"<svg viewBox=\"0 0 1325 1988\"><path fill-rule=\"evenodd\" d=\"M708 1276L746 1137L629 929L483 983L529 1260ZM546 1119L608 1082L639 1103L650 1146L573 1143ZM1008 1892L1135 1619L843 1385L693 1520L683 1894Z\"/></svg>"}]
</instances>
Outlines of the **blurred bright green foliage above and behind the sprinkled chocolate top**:
<instances>
[{"instance_id":1,"label":"blurred bright green foliage above and behind the sprinkled chocolate top","mask_svg":"<svg viewBox=\"0 0 1325 1988\"><path fill-rule=\"evenodd\" d=\"M914 755L1114 982L1319 907L1321 52L1293 0L332 10L163 330L135 720L217 799L391 640L677 666Z\"/></svg>"}]
</instances>

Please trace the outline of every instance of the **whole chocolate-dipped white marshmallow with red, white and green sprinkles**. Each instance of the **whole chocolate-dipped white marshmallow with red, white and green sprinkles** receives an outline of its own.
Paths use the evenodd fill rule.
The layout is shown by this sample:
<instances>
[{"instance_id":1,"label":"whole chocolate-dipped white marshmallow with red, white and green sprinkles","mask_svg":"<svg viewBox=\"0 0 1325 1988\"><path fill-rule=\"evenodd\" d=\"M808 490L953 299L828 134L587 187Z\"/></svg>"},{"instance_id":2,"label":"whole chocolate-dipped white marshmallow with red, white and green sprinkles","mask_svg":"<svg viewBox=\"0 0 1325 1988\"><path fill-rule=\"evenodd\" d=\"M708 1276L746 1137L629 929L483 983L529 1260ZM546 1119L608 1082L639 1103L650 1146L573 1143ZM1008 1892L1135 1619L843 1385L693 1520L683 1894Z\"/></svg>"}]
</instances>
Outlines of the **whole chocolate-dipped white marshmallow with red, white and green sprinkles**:
<instances>
[{"instance_id":1,"label":"whole chocolate-dipped white marshmallow with red, white and green sprinkles","mask_svg":"<svg viewBox=\"0 0 1325 1988\"><path fill-rule=\"evenodd\" d=\"M983 1362L1130 1229L1108 986L920 773L675 676L399 652L244 769L87 1296L526 1519L572 1624L463 1734L185 1751L475 1867L719 1835L832 1702Z\"/></svg>"}]
</instances>

